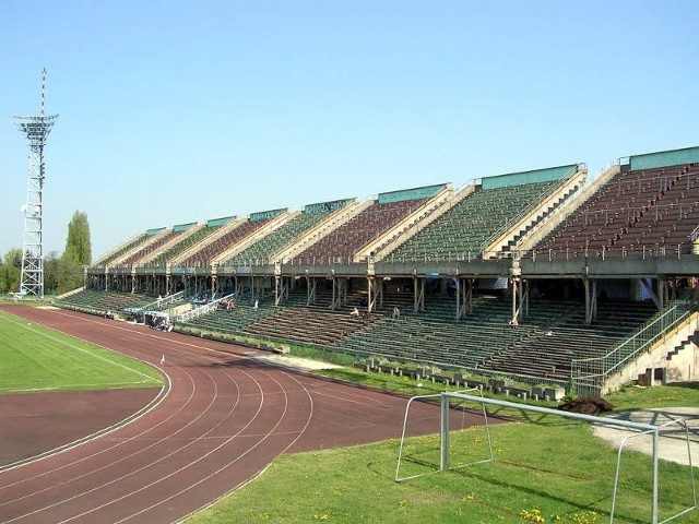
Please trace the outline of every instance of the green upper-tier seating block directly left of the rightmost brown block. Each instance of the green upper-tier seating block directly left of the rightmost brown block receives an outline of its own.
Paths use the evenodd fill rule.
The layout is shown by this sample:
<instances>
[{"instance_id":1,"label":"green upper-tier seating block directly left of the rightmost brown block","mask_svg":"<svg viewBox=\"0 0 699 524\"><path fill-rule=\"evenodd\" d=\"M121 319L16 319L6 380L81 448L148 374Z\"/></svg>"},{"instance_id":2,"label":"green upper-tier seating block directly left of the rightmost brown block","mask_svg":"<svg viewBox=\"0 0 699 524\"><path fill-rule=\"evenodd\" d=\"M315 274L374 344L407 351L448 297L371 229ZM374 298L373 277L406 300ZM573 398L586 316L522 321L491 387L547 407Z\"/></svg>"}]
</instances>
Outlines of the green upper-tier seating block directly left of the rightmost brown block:
<instances>
[{"instance_id":1,"label":"green upper-tier seating block directly left of the rightmost brown block","mask_svg":"<svg viewBox=\"0 0 699 524\"><path fill-rule=\"evenodd\" d=\"M558 181L495 189L476 189L471 195L429 224L388 255L391 260L464 260L476 257L509 221Z\"/></svg>"}]
</instances>

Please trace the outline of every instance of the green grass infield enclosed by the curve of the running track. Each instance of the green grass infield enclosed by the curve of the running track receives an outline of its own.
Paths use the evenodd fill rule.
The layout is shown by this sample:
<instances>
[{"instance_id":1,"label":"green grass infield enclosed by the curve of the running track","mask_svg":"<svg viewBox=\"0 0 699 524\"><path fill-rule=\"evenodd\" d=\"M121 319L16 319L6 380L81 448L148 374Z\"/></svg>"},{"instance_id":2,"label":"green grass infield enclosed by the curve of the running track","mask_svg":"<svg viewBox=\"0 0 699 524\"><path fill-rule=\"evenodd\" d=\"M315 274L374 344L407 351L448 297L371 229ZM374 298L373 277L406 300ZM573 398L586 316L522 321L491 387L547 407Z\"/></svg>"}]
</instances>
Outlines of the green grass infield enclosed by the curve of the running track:
<instances>
[{"instance_id":1,"label":"green grass infield enclosed by the curve of the running track","mask_svg":"<svg viewBox=\"0 0 699 524\"><path fill-rule=\"evenodd\" d=\"M0 393L163 385L157 369L0 311Z\"/></svg>"}]
</instances>

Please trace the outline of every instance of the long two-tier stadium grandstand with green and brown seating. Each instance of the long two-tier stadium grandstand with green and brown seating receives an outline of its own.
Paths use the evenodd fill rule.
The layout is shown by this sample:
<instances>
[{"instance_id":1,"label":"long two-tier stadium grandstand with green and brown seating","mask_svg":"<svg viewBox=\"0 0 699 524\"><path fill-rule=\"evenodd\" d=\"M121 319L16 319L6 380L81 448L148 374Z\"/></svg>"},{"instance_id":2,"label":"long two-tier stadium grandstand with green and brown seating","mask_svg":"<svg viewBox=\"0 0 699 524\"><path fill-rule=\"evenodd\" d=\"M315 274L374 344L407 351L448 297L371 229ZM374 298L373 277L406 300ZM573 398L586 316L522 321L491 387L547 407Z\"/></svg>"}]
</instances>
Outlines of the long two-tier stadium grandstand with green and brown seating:
<instances>
[{"instance_id":1,"label":"long two-tier stadium grandstand with green and brown seating","mask_svg":"<svg viewBox=\"0 0 699 524\"><path fill-rule=\"evenodd\" d=\"M698 226L689 147L149 229L57 305L604 393L697 379Z\"/></svg>"}]
</instances>

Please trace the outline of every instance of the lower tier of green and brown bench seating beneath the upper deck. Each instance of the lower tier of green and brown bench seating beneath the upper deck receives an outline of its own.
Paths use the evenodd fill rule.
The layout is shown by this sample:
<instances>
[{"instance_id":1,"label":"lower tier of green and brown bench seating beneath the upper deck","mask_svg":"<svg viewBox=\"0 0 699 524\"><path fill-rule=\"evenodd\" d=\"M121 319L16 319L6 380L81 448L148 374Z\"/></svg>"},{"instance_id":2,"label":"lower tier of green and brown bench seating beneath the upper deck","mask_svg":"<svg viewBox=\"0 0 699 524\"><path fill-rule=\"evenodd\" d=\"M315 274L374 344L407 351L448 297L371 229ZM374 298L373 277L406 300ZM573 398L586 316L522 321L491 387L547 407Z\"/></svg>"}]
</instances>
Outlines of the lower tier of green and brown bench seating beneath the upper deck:
<instances>
[{"instance_id":1,"label":"lower tier of green and brown bench seating beneath the upper deck","mask_svg":"<svg viewBox=\"0 0 699 524\"><path fill-rule=\"evenodd\" d=\"M473 312L457 320L453 297L429 296L425 311L415 313L407 294L394 294L387 295L377 311L355 318L350 313L362 299L360 294L350 294L347 303L333 310L328 295L320 294L317 303L309 306L306 295L298 291L282 306L271 300L261 301L258 308L236 303L175 329L283 341L440 369L566 382L573 359L609 353L654 314L654 307L644 302L603 302L599 320L584 325L582 303L541 299L532 301L522 325L512 326L507 297L477 296ZM86 289L58 305L116 312L149 301L153 297ZM401 306L399 318L391 313L394 305Z\"/></svg>"}]
</instances>

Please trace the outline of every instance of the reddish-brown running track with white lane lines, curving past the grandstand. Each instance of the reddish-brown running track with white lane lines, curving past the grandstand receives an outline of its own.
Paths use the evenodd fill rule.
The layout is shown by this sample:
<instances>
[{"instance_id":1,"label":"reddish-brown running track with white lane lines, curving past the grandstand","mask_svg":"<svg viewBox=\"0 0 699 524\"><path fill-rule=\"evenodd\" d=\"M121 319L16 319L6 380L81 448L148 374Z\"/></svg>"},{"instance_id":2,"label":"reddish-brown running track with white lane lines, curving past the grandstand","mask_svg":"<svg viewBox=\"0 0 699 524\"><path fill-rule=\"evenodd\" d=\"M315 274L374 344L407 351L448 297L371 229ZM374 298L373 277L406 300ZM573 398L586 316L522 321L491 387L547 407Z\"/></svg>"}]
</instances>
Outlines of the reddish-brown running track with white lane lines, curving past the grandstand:
<instances>
[{"instance_id":1,"label":"reddish-brown running track with white lane lines, curving past the grandstand","mask_svg":"<svg viewBox=\"0 0 699 524\"><path fill-rule=\"evenodd\" d=\"M75 429L75 440L87 427L94 438L0 468L2 524L173 523L241 486L281 453L399 438L402 430L405 397L269 366L249 348L63 310L3 309L153 366L164 355L169 388L145 390L128 410L132 417L122 413L123 398L106 394L99 402L111 418L82 417L96 426ZM45 397L36 397L34 408L23 408L42 410ZM114 400L120 408L109 405ZM438 406L412 409L412 434L438 431ZM125 424L112 427L115 414ZM51 428L60 433L72 421L55 417ZM479 422L460 413L452 427ZM36 425L25 432L36 432ZM44 431L46 450L57 443L54 432ZM8 439L0 444L12 446Z\"/></svg>"}]
</instances>

